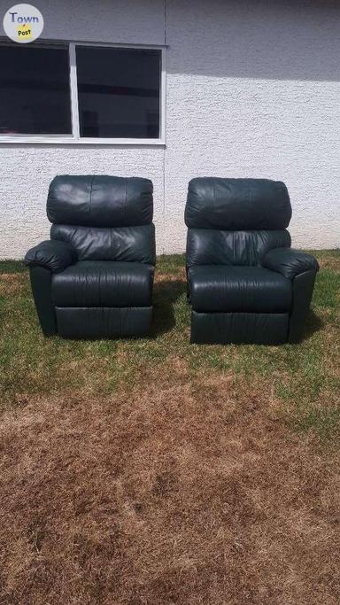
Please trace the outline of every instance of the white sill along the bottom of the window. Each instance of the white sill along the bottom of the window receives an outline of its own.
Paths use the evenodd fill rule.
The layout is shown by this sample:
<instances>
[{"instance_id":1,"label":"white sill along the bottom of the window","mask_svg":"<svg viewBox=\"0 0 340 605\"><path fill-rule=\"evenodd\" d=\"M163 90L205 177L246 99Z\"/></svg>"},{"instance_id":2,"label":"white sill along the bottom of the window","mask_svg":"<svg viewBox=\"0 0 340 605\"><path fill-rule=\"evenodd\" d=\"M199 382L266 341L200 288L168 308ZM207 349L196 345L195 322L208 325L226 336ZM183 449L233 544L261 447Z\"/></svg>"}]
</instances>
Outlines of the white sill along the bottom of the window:
<instances>
[{"instance_id":1,"label":"white sill along the bottom of the window","mask_svg":"<svg viewBox=\"0 0 340 605\"><path fill-rule=\"evenodd\" d=\"M0 136L0 144L24 143L49 145L160 145L165 146L163 139L118 139L86 138L76 139L71 136Z\"/></svg>"}]
</instances>

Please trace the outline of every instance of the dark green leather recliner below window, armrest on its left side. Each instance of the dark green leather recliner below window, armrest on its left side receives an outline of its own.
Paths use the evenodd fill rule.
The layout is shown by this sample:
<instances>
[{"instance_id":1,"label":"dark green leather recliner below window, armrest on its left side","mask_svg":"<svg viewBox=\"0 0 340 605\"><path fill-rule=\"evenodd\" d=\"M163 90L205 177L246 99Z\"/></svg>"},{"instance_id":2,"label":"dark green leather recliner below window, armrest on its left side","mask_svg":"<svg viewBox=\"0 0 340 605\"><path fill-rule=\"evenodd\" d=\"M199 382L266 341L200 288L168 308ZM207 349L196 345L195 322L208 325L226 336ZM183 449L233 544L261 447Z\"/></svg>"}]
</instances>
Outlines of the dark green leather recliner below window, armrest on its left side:
<instances>
[{"instance_id":1,"label":"dark green leather recliner below window, armrest on its left side","mask_svg":"<svg viewBox=\"0 0 340 605\"><path fill-rule=\"evenodd\" d=\"M148 334L156 260L152 213L148 179L53 179L47 200L50 240L25 257L46 336Z\"/></svg>"}]
</instances>

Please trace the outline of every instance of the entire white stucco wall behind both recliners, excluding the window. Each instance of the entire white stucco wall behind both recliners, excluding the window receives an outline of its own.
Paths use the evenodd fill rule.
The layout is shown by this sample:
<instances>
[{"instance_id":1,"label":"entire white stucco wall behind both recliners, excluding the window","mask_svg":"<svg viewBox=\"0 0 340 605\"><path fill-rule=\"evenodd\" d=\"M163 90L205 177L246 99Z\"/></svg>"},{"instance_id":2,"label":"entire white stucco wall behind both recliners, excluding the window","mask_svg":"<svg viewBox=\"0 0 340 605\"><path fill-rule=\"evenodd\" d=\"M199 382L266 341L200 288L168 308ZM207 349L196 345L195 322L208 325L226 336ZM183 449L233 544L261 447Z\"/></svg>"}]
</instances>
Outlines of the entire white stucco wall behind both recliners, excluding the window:
<instances>
[{"instance_id":1,"label":"entire white stucco wall behind both recliners, excluding the window","mask_svg":"<svg viewBox=\"0 0 340 605\"><path fill-rule=\"evenodd\" d=\"M286 182L293 244L340 246L340 4L40 0L44 37L168 44L166 148L1 145L0 257L46 237L60 173L152 179L158 252L182 252L188 181ZM0 11L8 3L0 0ZM90 26L89 26L90 24Z\"/></svg>"}]
</instances>

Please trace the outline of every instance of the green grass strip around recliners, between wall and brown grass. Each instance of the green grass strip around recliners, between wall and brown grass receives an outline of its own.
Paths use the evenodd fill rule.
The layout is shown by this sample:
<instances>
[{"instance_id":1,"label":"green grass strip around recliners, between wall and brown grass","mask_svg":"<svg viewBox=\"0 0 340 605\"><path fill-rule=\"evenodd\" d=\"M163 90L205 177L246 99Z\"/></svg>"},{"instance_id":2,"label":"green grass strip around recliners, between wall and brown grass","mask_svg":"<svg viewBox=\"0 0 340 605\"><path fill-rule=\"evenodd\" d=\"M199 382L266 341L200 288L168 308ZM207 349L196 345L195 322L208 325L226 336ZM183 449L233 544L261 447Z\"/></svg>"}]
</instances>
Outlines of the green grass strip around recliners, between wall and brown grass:
<instances>
[{"instance_id":1,"label":"green grass strip around recliners, between wall and brown grass","mask_svg":"<svg viewBox=\"0 0 340 605\"><path fill-rule=\"evenodd\" d=\"M3 407L30 395L110 395L133 388L145 368L166 370L177 359L189 377L232 374L251 393L263 381L289 410L291 424L323 438L338 436L340 413L340 251L314 252L320 261L305 339L298 345L190 345L184 256L158 257L150 337L71 341L45 338L19 261L0 262L0 391ZM244 386L245 385L245 386Z\"/></svg>"}]
</instances>

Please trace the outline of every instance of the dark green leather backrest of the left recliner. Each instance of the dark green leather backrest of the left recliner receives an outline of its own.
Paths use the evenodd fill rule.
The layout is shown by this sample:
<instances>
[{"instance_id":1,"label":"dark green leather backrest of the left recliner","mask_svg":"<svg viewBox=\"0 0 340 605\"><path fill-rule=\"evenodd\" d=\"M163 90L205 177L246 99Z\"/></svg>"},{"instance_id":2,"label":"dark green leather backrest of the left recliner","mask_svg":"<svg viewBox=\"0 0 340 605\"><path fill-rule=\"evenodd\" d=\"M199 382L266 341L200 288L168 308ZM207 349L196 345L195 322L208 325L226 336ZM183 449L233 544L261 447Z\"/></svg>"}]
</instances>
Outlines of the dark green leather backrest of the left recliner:
<instances>
[{"instance_id":1,"label":"dark green leather backrest of the left recliner","mask_svg":"<svg viewBox=\"0 0 340 605\"><path fill-rule=\"evenodd\" d=\"M79 260L155 263L152 182L119 176L59 175L50 183L50 237Z\"/></svg>"}]
</instances>

